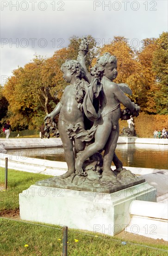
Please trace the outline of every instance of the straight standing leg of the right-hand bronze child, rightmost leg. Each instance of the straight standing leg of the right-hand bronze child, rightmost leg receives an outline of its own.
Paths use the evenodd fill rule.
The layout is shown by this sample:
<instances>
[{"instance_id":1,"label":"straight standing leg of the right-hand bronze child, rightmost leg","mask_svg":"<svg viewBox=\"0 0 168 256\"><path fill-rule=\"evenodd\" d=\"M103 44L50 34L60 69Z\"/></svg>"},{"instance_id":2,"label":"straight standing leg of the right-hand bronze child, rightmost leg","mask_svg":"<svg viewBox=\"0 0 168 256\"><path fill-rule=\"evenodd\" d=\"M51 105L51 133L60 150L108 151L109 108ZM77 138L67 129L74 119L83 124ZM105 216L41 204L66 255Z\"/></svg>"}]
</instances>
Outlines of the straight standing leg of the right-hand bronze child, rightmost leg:
<instances>
[{"instance_id":1,"label":"straight standing leg of the right-hand bronze child, rightmost leg","mask_svg":"<svg viewBox=\"0 0 168 256\"><path fill-rule=\"evenodd\" d=\"M116 130L112 130L105 146L105 152L103 155L103 175L112 176L111 164L114 156L114 152L117 146L119 136L119 124L116 126Z\"/></svg>"}]
</instances>

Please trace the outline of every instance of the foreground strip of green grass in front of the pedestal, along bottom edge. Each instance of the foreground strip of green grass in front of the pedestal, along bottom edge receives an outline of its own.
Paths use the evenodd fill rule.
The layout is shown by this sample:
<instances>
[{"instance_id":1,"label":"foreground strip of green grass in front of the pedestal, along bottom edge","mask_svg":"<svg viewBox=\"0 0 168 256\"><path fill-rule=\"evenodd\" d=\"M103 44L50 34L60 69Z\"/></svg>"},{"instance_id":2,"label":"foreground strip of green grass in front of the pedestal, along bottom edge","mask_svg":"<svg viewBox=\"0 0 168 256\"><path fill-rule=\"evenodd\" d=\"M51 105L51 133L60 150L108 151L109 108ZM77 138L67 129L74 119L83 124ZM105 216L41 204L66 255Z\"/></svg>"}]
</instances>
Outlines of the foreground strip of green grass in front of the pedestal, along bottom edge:
<instances>
[{"instance_id":1,"label":"foreground strip of green grass in front of the pedestal, along bottom edge","mask_svg":"<svg viewBox=\"0 0 168 256\"><path fill-rule=\"evenodd\" d=\"M0 219L1 225L1 256L61 256L62 230L53 229L54 225L38 226ZM75 239L78 241L75 242ZM28 245L25 247L25 245ZM158 246L157 246L158 247ZM160 248L165 249L163 246ZM68 255L70 256L167 256L167 252L151 249L140 245L122 244L119 239L110 236L95 236L91 232L78 233L68 230Z\"/></svg>"}]
</instances>

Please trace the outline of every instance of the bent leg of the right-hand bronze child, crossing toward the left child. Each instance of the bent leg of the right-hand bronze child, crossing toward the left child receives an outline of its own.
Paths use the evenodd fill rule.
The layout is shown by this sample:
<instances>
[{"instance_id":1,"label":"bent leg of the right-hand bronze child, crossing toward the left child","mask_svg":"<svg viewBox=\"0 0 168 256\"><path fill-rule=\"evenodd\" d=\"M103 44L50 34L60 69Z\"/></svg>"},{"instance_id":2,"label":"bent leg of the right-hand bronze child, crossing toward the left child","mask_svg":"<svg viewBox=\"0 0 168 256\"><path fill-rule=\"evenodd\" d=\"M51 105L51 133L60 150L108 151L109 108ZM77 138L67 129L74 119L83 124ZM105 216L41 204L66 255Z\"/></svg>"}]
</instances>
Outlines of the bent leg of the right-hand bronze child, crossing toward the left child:
<instances>
[{"instance_id":1,"label":"bent leg of the right-hand bronze child, crossing toward the left child","mask_svg":"<svg viewBox=\"0 0 168 256\"><path fill-rule=\"evenodd\" d=\"M75 169L77 172L82 171L82 165L88 157L104 148L106 141L108 140L108 137L111 133L111 130L112 123L108 120L104 121L101 125L98 125L95 133L95 142L85 148L81 156L76 158Z\"/></svg>"}]
</instances>

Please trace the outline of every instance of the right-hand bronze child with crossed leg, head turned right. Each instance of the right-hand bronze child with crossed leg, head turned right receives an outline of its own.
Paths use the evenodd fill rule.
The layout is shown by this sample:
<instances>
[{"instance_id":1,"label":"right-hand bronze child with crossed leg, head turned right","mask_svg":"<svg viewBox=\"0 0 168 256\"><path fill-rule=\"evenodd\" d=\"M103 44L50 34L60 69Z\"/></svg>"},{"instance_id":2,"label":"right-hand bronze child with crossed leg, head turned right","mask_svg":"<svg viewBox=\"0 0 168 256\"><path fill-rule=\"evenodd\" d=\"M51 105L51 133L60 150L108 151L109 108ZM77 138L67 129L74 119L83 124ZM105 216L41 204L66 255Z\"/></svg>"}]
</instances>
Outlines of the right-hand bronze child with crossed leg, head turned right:
<instances>
[{"instance_id":1,"label":"right-hand bronze child with crossed leg, head turned right","mask_svg":"<svg viewBox=\"0 0 168 256\"><path fill-rule=\"evenodd\" d=\"M102 100L99 112L101 116L98 120L98 127L95 132L95 141L90 144L82 154L76 159L75 169L78 173L82 171L85 160L95 152L104 148L103 156L103 176L113 176L111 164L119 136L119 118L121 115L120 102L133 115L137 111L135 105L124 94L118 84L113 80L117 77L117 59L109 53L99 57L97 64L92 70L92 75L101 79Z\"/></svg>"}]
</instances>

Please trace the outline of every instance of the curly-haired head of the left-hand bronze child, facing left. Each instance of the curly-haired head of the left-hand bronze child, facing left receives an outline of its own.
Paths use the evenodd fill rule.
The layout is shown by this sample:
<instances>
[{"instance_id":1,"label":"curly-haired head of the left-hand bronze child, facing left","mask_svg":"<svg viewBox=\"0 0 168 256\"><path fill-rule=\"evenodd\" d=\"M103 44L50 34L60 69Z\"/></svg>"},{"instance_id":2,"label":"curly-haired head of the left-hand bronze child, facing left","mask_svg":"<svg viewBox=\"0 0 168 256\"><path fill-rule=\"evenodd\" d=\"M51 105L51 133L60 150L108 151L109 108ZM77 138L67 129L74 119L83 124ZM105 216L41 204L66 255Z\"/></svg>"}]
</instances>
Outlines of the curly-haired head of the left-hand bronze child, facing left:
<instances>
[{"instance_id":1,"label":"curly-haired head of the left-hand bronze child, facing left","mask_svg":"<svg viewBox=\"0 0 168 256\"><path fill-rule=\"evenodd\" d=\"M81 64L78 61L74 61L74 60L65 61L61 66L61 70L64 74L63 78L67 82L70 82L74 76L79 79L81 79L84 76L83 69L81 67Z\"/></svg>"}]
</instances>

